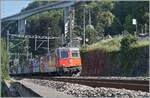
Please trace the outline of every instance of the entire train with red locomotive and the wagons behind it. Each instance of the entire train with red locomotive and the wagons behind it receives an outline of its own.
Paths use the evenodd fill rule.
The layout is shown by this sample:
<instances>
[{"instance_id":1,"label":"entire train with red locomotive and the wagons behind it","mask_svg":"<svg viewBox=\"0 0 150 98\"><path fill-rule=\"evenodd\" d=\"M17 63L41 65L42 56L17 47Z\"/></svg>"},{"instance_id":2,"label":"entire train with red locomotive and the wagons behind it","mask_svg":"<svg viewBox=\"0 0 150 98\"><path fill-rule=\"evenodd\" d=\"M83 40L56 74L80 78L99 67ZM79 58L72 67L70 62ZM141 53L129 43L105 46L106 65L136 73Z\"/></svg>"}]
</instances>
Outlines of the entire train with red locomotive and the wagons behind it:
<instances>
[{"instance_id":1,"label":"entire train with red locomotive and the wagons behind it","mask_svg":"<svg viewBox=\"0 0 150 98\"><path fill-rule=\"evenodd\" d=\"M81 70L79 48L61 47L53 53L31 59L28 64L9 68L10 75L75 74Z\"/></svg>"}]
</instances>

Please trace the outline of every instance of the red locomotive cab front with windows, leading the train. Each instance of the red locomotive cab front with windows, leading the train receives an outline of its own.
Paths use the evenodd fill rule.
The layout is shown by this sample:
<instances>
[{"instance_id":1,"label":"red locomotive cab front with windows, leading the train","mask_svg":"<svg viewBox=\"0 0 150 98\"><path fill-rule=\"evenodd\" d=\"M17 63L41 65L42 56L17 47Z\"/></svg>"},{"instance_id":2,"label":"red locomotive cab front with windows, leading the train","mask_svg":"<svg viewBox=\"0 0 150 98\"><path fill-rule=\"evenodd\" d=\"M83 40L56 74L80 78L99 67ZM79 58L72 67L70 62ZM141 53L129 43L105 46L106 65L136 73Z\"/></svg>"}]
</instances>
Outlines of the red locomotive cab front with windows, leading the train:
<instances>
[{"instance_id":1,"label":"red locomotive cab front with windows, leading the train","mask_svg":"<svg viewBox=\"0 0 150 98\"><path fill-rule=\"evenodd\" d=\"M79 48L58 48L56 49L57 68L64 72L79 72L81 68L81 58Z\"/></svg>"}]
</instances>

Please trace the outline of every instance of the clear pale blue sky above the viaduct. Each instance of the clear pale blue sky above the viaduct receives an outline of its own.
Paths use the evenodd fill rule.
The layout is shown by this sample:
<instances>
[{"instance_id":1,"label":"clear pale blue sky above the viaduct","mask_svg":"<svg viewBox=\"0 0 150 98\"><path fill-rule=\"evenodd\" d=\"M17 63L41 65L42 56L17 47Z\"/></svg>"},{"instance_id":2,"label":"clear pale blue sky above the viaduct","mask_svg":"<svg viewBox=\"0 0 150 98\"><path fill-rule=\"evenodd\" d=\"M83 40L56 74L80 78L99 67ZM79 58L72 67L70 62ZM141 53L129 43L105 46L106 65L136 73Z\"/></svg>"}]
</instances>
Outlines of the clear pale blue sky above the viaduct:
<instances>
[{"instance_id":1,"label":"clear pale blue sky above the viaduct","mask_svg":"<svg viewBox=\"0 0 150 98\"><path fill-rule=\"evenodd\" d=\"M1 18L19 13L32 0L0 0L1 2Z\"/></svg>"}]
</instances>

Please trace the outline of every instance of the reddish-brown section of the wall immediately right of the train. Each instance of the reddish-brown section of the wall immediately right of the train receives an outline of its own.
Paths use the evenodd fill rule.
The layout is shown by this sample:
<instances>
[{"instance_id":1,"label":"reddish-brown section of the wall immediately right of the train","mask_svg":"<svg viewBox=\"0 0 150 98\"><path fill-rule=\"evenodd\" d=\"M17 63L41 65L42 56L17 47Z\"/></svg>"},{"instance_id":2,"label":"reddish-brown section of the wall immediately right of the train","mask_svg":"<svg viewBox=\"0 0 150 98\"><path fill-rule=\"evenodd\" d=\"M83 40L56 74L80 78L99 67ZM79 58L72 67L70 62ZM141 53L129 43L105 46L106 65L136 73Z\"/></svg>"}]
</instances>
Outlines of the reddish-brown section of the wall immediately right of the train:
<instances>
[{"instance_id":1,"label":"reddish-brown section of the wall immediately right of the train","mask_svg":"<svg viewBox=\"0 0 150 98\"><path fill-rule=\"evenodd\" d=\"M104 75L107 55L104 50L82 51L82 76Z\"/></svg>"}]
</instances>

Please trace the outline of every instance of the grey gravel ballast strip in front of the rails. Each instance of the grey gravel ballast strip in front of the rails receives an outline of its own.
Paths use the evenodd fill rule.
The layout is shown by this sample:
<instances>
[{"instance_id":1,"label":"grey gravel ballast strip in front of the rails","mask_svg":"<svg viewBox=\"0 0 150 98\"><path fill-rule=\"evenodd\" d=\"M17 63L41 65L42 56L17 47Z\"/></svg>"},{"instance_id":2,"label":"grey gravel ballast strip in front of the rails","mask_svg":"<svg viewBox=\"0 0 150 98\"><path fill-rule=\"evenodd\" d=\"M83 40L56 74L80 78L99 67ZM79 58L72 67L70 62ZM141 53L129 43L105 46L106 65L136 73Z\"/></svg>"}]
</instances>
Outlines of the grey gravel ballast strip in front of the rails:
<instances>
[{"instance_id":1,"label":"grey gravel ballast strip in front of the rails","mask_svg":"<svg viewBox=\"0 0 150 98\"><path fill-rule=\"evenodd\" d=\"M57 91L64 92L68 95L76 97L150 97L149 92L105 88L105 87L90 87L79 84L72 84L67 82L58 82L52 80L40 80L40 79L25 79L28 82L33 82L42 86L51 87Z\"/></svg>"}]
</instances>

